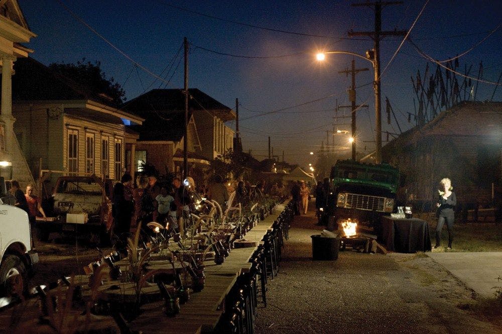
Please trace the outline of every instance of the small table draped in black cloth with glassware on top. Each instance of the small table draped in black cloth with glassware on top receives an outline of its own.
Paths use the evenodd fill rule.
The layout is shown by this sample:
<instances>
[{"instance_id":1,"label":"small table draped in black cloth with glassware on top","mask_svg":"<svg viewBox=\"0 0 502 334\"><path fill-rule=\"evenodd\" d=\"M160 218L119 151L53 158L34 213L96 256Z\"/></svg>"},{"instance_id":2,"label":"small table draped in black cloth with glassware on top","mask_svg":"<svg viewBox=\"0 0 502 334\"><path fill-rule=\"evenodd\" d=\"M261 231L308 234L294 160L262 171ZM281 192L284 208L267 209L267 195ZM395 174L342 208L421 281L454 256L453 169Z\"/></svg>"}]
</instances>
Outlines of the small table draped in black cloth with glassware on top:
<instances>
[{"instance_id":1,"label":"small table draped in black cloth with glassware on top","mask_svg":"<svg viewBox=\"0 0 502 334\"><path fill-rule=\"evenodd\" d=\"M418 218L382 216L381 222L382 242L388 251L415 253L431 250L427 221Z\"/></svg>"}]
</instances>

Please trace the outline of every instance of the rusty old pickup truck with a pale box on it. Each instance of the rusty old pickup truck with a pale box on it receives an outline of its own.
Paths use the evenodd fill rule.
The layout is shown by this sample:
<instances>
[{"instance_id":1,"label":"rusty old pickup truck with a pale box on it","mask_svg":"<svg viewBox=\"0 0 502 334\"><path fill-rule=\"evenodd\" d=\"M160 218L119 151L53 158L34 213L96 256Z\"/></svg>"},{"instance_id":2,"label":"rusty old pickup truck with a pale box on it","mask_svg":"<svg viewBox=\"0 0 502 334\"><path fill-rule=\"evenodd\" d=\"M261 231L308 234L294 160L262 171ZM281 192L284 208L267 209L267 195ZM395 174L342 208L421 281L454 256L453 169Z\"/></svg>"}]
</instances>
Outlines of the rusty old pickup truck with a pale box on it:
<instances>
[{"instance_id":1,"label":"rusty old pickup truck with a pale box on it","mask_svg":"<svg viewBox=\"0 0 502 334\"><path fill-rule=\"evenodd\" d=\"M38 238L48 241L52 232L109 241L111 196L115 181L95 176L61 176L50 198L52 212L37 218Z\"/></svg>"}]
</instances>

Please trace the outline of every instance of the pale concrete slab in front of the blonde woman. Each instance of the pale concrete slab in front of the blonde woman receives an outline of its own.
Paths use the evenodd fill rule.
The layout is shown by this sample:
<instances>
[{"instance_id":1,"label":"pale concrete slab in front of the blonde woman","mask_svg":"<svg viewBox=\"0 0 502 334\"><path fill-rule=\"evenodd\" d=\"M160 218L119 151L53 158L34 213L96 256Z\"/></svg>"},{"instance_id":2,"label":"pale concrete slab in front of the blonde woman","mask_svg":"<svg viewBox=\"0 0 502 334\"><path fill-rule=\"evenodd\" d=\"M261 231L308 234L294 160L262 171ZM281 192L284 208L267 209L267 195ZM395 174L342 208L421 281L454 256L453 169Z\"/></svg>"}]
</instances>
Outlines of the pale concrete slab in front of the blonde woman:
<instances>
[{"instance_id":1,"label":"pale concrete slab in front of the blonde woman","mask_svg":"<svg viewBox=\"0 0 502 334\"><path fill-rule=\"evenodd\" d=\"M480 296L493 298L502 287L502 252L425 253Z\"/></svg>"}]
</instances>

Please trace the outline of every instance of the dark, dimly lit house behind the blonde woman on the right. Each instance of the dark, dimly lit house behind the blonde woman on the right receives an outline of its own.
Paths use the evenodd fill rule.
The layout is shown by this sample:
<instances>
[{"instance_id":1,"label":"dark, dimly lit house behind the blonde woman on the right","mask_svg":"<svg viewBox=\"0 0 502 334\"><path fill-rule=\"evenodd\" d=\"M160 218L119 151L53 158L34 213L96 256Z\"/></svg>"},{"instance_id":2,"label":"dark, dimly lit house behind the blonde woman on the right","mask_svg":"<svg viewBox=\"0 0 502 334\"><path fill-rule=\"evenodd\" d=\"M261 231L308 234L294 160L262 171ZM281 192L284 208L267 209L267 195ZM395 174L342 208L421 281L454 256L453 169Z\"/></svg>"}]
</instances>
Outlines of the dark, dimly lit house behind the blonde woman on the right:
<instances>
[{"instance_id":1,"label":"dark, dimly lit house behind the blonde woman on the right","mask_svg":"<svg viewBox=\"0 0 502 334\"><path fill-rule=\"evenodd\" d=\"M483 205L500 185L501 154L502 102L462 102L392 140L382 160L399 167L408 200L433 200L448 177L459 203Z\"/></svg>"}]
</instances>

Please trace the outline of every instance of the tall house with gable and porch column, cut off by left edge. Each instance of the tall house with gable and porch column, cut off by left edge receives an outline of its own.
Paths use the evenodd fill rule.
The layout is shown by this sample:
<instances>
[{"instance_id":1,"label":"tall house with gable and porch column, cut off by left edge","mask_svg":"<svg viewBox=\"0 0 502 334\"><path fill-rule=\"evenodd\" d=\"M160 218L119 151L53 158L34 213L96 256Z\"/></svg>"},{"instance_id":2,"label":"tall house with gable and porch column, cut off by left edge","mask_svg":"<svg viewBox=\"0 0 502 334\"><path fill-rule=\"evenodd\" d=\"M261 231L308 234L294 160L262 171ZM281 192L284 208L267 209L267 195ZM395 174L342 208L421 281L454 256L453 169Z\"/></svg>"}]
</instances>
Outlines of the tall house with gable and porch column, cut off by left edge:
<instances>
[{"instance_id":1,"label":"tall house with gable and porch column, cut off by left edge","mask_svg":"<svg viewBox=\"0 0 502 334\"><path fill-rule=\"evenodd\" d=\"M33 179L16 142L12 115L12 75L16 59L28 57L33 50L21 45L36 37L30 31L16 0L0 2L0 63L2 66L2 105L0 113L0 176L23 183Z\"/></svg>"}]
</instances>

